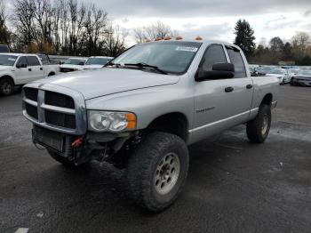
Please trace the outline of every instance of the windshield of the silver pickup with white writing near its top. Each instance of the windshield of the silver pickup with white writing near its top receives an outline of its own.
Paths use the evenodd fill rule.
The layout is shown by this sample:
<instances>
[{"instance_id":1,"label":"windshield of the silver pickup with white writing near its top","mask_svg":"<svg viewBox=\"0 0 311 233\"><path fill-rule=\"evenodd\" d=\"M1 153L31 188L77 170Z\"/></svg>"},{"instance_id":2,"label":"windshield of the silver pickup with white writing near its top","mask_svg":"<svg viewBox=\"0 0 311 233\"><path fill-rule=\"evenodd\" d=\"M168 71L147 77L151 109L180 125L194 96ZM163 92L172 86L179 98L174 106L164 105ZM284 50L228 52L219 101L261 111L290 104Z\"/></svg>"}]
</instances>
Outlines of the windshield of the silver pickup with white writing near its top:
<instances>
[{"instance_id":1,"label":"windshield of the silver pickup with white writing near its top","mask_svg":"<svg viewBox=\"0 0 311 233\"><path fill-rule=\"evenodd\" d=\"M200 48L198 42L161 41L138 44L121 54L114 64L143 63L167 73L183 74L187 71Z\"/></svg>"}]
</instances>

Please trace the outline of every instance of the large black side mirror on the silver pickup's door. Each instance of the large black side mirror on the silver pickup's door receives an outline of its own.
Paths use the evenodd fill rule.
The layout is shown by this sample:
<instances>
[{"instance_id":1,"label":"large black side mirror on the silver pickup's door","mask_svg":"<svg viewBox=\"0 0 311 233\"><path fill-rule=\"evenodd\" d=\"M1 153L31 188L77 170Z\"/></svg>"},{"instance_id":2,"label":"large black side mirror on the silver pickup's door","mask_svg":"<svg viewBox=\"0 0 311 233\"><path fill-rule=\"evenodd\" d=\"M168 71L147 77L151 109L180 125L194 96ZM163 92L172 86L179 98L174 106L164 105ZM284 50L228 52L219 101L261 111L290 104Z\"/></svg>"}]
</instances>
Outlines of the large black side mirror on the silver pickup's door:
<instances>
[{"instance_id":1,"label":"large black side mirror on the silver pickup's door","mask_svg":"<svg viewBox=\"0 0 311 233\"><path fill-rule=\"evenodd\" d=\"M217 63L212 65L211 71L205 71L202 68L198 70L195 81L201 82L212 79L227 79L235 76L235 65L232 63Z\"/></svg>"}]
</instances>

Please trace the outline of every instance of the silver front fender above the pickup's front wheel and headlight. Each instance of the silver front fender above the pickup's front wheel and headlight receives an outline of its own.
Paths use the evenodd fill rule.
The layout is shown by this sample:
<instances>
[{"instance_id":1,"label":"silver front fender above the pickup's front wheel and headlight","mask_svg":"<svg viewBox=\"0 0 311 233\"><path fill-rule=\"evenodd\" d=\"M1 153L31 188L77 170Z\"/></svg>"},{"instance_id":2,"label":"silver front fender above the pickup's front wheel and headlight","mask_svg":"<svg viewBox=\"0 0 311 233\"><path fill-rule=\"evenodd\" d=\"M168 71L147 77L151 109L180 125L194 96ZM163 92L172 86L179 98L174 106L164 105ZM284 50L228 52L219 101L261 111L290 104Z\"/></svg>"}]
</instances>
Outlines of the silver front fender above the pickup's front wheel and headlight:
<instances>
[{"instance_id":1,"label":"silver front fender above the pickup's front wheel and headlight","mask_svg":"<svg viewBox=\"0 0 311 233\"><path fill-rule=\"evenodd\" d=\"M86 100L86 108L132 112L137 116L137 129L140 130L147 128L158 116L168 113L183 114L191 125L193 101L191 88L168 84Z\"/></svg>"}]
</instances>

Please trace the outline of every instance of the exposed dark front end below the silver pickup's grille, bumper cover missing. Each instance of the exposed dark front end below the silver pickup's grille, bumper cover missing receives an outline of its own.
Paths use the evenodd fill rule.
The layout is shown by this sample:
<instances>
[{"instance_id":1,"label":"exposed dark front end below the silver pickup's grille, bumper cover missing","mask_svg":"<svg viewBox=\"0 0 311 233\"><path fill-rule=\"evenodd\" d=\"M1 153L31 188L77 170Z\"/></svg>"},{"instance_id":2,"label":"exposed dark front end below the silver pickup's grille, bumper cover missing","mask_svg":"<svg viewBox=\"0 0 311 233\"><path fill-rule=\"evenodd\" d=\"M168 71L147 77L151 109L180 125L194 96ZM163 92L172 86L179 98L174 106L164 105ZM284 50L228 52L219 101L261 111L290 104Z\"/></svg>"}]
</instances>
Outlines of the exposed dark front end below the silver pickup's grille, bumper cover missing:
<instances>
[{"instance_id":1,"label":"exposed dark front end below the silver pickup's grille, bumper cover missing","mask_svg":"<svg viewBox=\"0 0 311 233\"><path fill-rule=\"evenodd\" d=\"M84 135L70 135L54 132L34 125L32 140L35 145L43 146L48 151L66 157L76 165L81 165L91 160L108 161L116 156L124 145L132 143L138 133L92 133Z\"/></svg>"}]
</instances>

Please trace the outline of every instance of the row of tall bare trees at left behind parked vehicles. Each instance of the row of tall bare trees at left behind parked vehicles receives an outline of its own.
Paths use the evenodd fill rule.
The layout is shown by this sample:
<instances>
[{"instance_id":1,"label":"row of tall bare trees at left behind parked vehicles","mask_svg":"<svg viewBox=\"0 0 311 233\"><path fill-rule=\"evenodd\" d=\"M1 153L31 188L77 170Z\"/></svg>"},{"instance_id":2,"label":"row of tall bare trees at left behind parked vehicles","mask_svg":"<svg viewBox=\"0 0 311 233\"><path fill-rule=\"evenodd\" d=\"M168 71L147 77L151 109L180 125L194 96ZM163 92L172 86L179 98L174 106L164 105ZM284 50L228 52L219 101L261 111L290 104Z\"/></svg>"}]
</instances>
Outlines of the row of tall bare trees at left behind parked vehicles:
<instances>
[{"instance_id":1,"label":"row of tall bare trees at left behind parked vehicles","mask_svg":"<svg viewBox=\"0 0 311 233\"><path fill-rule=\"evenodd\" d=\"M116 56L125 49L127 31L115 26L96 4L77 0L13 0L12 4L8 17L0 0L0 44L8 44L12 51Z\"/></svg>"}]
</instances>

